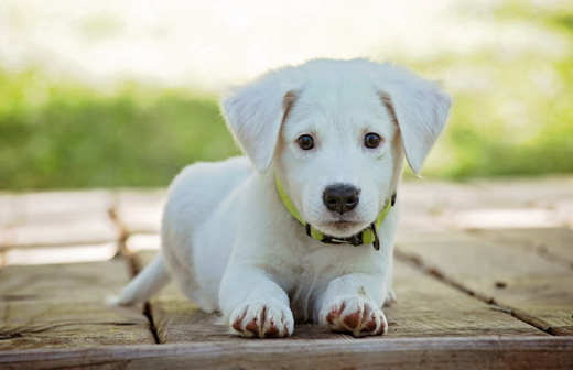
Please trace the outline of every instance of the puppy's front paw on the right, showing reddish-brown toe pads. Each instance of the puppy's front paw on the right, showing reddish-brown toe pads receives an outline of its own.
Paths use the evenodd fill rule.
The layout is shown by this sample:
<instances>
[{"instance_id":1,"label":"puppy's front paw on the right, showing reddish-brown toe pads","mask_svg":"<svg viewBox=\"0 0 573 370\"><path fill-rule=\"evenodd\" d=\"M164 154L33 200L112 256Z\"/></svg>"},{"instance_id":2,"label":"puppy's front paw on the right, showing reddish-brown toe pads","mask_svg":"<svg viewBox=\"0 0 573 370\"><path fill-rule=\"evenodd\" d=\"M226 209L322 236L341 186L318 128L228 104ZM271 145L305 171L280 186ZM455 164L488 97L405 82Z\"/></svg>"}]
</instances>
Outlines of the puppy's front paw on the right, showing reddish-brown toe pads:
<instances>
[{"instance_id":1,"label":"puppy's front paw on the right, showing reddish-brown toe pads","mask_svg":"<svg viewBox=\"0 0 573 370\"><path fill-rule=\"evenodd\" d=\"M355 296L338 297L321 311L321 325L332 331L348 331L355 337L382 335L388 322L374 303Z\"/></svg>"}]
</instances>

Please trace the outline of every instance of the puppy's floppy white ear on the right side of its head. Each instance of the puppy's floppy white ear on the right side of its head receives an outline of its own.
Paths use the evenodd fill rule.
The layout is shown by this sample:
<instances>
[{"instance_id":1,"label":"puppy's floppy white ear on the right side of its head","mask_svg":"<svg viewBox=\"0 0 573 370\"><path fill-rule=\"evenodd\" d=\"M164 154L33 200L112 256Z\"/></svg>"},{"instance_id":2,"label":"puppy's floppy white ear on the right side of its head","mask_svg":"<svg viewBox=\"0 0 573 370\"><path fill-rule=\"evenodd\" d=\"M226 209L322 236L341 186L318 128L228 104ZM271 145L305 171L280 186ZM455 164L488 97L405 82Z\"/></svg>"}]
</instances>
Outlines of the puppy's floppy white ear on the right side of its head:
<instances>
[{"instance_id":1,"label":"puppy's floppy white ear on the right side of its head","mask_svg":"<svg viewBox=\"0 0 573 370\"><path fill-rule=\"evenodd\" d=\"M379 96L400 128L410 167L420 176L428 153L445 127L450 95L436 83L408 74L404 80L385 84Z\"/></svg>"}]
</instances>

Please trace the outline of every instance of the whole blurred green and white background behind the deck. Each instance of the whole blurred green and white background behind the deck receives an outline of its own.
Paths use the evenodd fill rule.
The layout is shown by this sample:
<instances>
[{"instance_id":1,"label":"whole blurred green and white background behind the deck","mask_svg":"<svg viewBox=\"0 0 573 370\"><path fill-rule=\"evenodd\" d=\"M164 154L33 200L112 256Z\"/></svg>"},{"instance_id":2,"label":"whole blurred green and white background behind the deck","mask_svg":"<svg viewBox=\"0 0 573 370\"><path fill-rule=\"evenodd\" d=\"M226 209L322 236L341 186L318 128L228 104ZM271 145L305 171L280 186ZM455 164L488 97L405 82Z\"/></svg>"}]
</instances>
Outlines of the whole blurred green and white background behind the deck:
<instances>
[{"instance_id":1,"label":"whole blurred green and white background behind the deck","mask_svg":"<svg viewBox=\"0 0 573 370\"><path fill-rule=\"evenodd\" d=\"M569 0L0 0L0 189L166 186L238 153L227 86L313 57L443 81L426 177L573 172Z\"/></svg>"}]
</instances>

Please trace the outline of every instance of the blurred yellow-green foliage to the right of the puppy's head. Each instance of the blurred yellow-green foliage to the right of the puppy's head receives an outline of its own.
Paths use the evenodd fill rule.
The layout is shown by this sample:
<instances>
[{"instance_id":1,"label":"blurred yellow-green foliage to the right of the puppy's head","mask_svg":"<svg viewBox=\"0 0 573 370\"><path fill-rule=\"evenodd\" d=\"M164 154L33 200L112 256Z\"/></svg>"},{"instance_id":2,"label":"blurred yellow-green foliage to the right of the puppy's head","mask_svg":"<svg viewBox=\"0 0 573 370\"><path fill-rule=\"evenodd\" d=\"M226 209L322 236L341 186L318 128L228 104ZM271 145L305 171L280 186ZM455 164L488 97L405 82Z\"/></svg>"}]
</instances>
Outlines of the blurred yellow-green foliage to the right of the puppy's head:
<instances>
[{"instance_id":1,"label":"blurred yellow-green foliage to the right of the puppy's head","mask_svg":"<svg viewBox=\"0 0 573 370\"><path fill-rule=\"evenodd\" d=\"M533 29L548 43L559 41L558 50L509 52L500 42L415 65L422 74L467 80L453 94L448 127L425 173L448 178L572 173L573 2L551 8L505 1L495 17L517 32Z\"/></svg>"}]
</instances>

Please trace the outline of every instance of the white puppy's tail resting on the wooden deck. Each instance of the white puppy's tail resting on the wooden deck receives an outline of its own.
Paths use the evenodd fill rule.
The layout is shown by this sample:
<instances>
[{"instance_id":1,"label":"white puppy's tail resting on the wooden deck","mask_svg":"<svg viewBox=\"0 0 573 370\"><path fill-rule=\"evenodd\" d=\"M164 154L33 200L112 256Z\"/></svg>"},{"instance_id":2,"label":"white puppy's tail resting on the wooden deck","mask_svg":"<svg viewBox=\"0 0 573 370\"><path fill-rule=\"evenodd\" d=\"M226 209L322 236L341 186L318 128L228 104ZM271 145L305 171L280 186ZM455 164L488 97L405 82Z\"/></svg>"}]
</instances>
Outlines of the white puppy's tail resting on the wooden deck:
<instances>
[{"instance_id":1,"label":"white puppy's tail resting on the wooden deck","mask_svg":"<svg viewBox=\"0 0 573 370\"><path fill-rule=\"evenodd\" d=\"M123 287L119 298L111 300L111 303L119 306L129 306L138 302L147 302L152 295L165 287L170 281L171 275L163 263L163 254L159 253L143 271Z\"/></svg>"}]
</instances>

